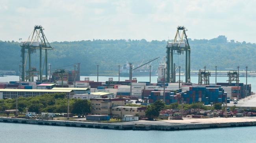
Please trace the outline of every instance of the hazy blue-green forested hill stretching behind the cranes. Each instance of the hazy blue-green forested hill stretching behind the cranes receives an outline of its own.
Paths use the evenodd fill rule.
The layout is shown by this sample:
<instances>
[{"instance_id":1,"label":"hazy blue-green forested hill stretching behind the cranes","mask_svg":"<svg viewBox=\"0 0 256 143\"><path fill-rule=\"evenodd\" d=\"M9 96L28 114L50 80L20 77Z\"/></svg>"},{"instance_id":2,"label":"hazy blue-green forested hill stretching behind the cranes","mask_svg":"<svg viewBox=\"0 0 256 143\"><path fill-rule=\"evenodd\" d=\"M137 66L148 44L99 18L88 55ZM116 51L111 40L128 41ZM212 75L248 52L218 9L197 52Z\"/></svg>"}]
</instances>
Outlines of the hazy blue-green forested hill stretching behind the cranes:
<instances>
[{"instance_id":1,"label":"hazy blue-green forested hill stretching behind the cranes","mask_svg":"<svg viewBox=\"0 0 256 143\"><path fill-rule=\"evenodd\" d=\"M246 42L227 42L225 36L219 36L211 40L191 40L191 69L236 68L249 66L256 69L256 44ZM87 40L75 42L52 42L53 51L48 51L48 63L52 69L71 69L74 63L81 63L81 75L96 73L96 65L99 65L100 73L117 73L118 65L131 62L135 67L142 61L161 57L152 62L154 69L166 56L167 41L153 40ZM18 71L21 61L20 46L18 42L0 42L0 70ZM43 52L44 53L44 52ZM39 65L39 51L32 54L32 67ZM184 55L175 55L176 65L185 65ZM43 59L44 60L44 59ZM184 63L184 64L182 64Z\"/></svg>"}]
</instances>

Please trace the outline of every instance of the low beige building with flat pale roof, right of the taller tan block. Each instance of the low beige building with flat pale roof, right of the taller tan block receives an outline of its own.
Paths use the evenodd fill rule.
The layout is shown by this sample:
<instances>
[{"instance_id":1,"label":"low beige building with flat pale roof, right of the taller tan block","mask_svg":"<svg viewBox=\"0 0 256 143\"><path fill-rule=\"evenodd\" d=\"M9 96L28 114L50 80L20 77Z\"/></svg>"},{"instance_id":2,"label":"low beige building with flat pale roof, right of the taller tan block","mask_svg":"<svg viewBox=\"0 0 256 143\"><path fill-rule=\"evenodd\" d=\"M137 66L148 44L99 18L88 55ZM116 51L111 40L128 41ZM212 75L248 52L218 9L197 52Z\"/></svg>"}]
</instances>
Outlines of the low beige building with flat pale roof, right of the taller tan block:
<instances>
[{"instance_id":1,"label":"low beige building with flat pale roof, right of the taller tan block","mask_svg":"<svg viewBox=\"0 0 256 143\"><path fill-rule=\"evenodd\" d=\"M111 108L113 117L123 117L124 115L137 115L139 118L145 118L145 110L147 107L117 106Z\"/></svg>"}]
</instances>

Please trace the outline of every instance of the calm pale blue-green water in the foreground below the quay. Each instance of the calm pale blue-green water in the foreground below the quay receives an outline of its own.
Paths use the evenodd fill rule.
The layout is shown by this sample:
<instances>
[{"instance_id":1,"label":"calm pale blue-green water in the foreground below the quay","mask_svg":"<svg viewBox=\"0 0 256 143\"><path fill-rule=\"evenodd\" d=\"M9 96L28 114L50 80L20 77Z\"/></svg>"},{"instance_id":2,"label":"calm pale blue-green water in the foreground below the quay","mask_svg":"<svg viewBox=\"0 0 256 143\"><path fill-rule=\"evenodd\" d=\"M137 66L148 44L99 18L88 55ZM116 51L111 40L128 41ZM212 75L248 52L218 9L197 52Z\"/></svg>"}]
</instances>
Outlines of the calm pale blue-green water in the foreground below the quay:
<instances>
[{"instance_id":1,"label":"calm pale blue-green water in the foreground below the quay","mask_svg":"<svg viewBox=\"0 0 256 143\"><path fill-rule=\"evenodd\" d=\"M1 143L255 143L256 127L182 131L106 130L0 123ZM239 135L239 136L237 136Z\"/></svg>"}]
</instances>

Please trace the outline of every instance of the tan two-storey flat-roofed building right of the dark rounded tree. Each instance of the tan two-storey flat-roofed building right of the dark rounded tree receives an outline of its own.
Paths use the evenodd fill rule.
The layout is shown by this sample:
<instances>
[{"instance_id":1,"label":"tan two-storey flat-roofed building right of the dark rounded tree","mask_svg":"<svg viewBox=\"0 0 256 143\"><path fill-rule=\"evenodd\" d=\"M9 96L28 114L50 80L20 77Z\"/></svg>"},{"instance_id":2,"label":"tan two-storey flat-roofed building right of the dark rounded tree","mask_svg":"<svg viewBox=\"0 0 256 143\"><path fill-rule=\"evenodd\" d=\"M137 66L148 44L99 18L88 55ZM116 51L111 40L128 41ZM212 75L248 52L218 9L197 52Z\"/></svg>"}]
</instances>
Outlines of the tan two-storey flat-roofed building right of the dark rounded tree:
<instances>
[{"instance_id":1,"label":"tan two-storey flat-roofed building right of the dark rounded tree","mask_svg":"<svg viewBox=\"0 0 256 143\"><path fill-rule=\"evenodd\" d=\"M124 105L123 98L91 98L91 114L111 115L111 107Z\"/></svg>"}]
</instances>

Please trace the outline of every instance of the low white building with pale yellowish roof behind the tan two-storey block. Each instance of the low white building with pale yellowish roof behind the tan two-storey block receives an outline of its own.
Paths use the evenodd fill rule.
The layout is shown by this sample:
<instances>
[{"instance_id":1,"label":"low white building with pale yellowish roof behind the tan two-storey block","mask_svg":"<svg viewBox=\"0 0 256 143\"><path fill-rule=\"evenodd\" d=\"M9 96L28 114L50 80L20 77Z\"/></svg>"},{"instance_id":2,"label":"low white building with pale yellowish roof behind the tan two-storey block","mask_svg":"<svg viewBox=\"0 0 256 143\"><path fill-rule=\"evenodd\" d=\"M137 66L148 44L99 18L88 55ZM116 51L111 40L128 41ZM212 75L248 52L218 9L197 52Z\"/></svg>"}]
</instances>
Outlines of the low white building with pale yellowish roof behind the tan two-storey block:
<instances>
[{"instance_id":1,"label":"low white building with pale yellowish roof behind the tan two-storey block","mask_svg":"<svg viewBox=\"0 0 256 143\"><path fill-rule=\"evenodd\" d=\"M82 99L82 100L91 100L91 98L114 98L113 93L108 92L93 92L87 94L75 94L73 98Z\"/></svg>"}]
</instances>

